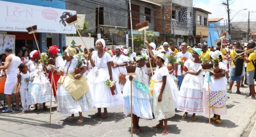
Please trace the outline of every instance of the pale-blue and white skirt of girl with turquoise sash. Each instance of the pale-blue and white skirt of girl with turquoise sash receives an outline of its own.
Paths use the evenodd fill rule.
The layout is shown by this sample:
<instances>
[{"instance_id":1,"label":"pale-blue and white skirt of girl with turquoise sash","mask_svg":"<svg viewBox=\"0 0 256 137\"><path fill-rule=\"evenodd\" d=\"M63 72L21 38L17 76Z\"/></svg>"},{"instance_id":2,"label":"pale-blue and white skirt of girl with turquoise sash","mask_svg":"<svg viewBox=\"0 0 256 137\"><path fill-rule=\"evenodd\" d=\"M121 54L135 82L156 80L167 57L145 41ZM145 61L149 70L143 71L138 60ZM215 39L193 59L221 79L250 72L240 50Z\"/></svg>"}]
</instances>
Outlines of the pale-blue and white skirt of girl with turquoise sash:
<instances>
[{"instance_id":1,"label":"pale-blue and white skirt of girl with turquoise sash","mask_svg":"<svg viewBox=\"0 0 256 137\"><path fill-rule=\"evenodd\" d=\"M133 92L133 114L140 118L151 119L152 109L150 100L153 99L150 93L143 92L136 88L136 84L132 83ZM127 81L123 88L123 113L128 115L131 113L131 96L130 96L130 81Z\"/></svg>"}]
</instances>

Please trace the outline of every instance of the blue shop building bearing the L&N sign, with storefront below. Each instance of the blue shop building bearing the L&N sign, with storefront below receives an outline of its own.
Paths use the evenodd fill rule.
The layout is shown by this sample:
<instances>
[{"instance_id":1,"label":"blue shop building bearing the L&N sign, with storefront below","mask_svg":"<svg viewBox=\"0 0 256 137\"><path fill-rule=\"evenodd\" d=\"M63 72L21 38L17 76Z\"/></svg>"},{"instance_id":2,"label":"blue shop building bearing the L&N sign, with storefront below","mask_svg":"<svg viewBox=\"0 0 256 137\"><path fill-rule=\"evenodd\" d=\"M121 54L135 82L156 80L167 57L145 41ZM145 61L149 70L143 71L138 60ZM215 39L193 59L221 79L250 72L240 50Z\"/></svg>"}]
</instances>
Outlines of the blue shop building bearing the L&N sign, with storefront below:
<instances>
[{"instance_id":1,"label":"blue shop building bearing the L&N sign, with storefront below","mask_svg":"<svg viewBox=\"0 0 256 137\"><path fill-rule=\"evenodd\" d=\"M67 28L69 26L64 21L67 13L70 13L69 16L76 14L75 11L66 10L65 1L1 0L0 11L1 18L4 18L0 20L0 34L4 35L4 39L5 35L15 35L16 50L37 49L34 36L27 33L26 27L29 26L38 26L35 36L41 52L46 52L46 48L52 45L58 45L61 49L66 46L66 34L76 33L74 28ZM0 42L1 46L4 47L4 42Z\"/></svg>"}]
</instances>

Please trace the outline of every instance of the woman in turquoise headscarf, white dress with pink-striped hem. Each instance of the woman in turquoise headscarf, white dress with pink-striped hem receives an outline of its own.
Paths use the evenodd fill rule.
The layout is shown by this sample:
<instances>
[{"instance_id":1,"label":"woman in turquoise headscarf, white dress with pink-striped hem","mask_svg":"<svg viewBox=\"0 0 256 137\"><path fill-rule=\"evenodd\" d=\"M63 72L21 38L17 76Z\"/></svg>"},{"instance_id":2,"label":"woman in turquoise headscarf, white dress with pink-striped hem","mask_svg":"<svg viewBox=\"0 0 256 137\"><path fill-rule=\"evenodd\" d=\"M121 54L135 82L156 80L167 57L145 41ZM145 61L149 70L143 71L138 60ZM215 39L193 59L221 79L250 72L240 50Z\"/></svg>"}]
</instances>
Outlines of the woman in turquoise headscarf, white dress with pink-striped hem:
<instances>
[{"instance_id":1,"label":"woman in turquoise headscarf, white dress with pink-striped hem","mask_svg":"<svg viewBox=\"0 0 256 137\"><path fill-rule=\"evenodd\" d=\"M188 59L184 66L188 69L181 84L178 95L177 110L184 111L183 119L187 118L188 112L193 113L192 120L196 121L196 113L203 112L202 102L202 87L203 73L202 61L199 59L201 48L193 48L193 59ZM189 86L188 86L189 85Z\"/></svg>"}]
</instances>

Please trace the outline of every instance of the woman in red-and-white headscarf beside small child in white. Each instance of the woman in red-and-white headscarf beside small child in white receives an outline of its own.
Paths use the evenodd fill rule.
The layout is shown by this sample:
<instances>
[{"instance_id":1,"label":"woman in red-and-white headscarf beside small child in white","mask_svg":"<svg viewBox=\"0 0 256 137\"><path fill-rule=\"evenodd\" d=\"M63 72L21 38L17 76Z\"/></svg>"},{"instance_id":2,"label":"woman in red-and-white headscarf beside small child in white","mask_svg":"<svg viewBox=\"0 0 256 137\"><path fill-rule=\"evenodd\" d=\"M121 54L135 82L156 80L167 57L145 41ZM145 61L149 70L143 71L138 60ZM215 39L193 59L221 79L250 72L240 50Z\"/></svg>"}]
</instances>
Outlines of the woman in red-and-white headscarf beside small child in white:
<instances>
[{"instance_id":1,"label":"woman in red-and-white headscarf beside small child in white","mask_svg":"<svg viewBox=\"0 0 256 137\"><path fill-rule=\"evenodd\" d=\"M48 110L45 102L49 102L52 92L50 81L46 76L46 67L39 61L41 59L39 51L33 50L30 54L31 60L27 63L30 71L28 82L28 105L35 104L35 110L38 110L37 103L43 103L43 110ZM54 100L54 97L52 99Z\"/></svg>"}]
</instances>

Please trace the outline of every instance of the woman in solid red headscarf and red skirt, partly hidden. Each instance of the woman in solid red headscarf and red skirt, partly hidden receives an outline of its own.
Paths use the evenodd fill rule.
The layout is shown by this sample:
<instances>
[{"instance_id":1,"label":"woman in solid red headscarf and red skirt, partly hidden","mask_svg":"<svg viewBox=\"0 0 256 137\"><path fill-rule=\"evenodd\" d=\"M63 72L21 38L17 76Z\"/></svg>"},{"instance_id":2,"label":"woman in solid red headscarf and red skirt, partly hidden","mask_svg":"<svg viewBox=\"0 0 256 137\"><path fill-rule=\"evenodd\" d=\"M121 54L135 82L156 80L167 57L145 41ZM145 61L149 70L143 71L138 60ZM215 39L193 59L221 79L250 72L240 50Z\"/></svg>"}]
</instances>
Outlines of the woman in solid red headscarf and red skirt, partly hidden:
<instances>
[{"instance_id":1,"label":"woman in solid red headscarf and red skirt, partly hidden","mask_svg":"<svg viewBox=\"0 0 256 137\"><path fill-rule=\"evenodd\" d=\"M59 69L60 66L63 65L63 59L61 56L58 55L58 52L60 50L58 49L58 46L54 45L54 46L50 46L49 49L48 49L48 55L50 57L50 59L48 60L48 64L52 64L55 66L55 69ZM57 81L60 79L60 75L56 75L56 74L53 74L53 94L54 94L54 97L56 99L56 89L57 89ZM49 72L49 80L50 82L52 83L52 71ZM54 85L56 87L54 87Z\"/></svg>"}]
</instances>

